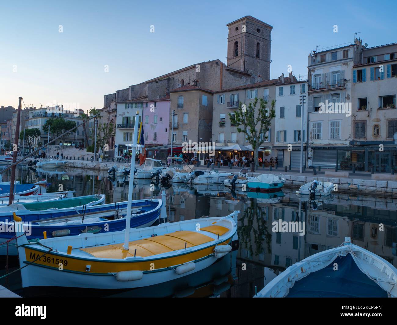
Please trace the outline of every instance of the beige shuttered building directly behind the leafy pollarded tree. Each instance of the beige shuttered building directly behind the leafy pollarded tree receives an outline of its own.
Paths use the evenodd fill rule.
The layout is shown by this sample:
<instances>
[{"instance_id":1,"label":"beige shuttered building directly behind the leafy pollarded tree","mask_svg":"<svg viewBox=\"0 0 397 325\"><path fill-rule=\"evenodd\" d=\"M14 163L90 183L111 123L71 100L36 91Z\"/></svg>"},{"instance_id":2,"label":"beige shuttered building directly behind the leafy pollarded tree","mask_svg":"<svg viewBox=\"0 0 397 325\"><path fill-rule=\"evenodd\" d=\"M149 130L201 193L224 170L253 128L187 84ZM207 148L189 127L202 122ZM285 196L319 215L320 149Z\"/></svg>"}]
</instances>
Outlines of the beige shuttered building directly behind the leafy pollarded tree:
<instances>
[{"instance_id":1,"label":"beige shuttered building directly behind the leafy pollarded tree","mask_svg":"<svg viewBox=\"0 0 397 325\"><path fill-rule=\"evenodd\" d=\"M235 87L226 90L218 90L214 92L214 110L212 113L212 140L216 146L222 151L222 147L233 144L249 146L247 136L237 131L237 126L231 123L229 113L233 114L238 110L240 103L247 107L254 102L255 98L263 98L268 102L268 108L271 107L272 100L276 100L276 88L278 85L284 85L291 81L296 81L292 73L289 77L282 74L277 79L270 79L254 83L250 85ZM276 102L277 103L277 102ZM259 103L257 104L258 107ZM271 150L275 138L275 120L272 120L271 127L267 132L268 137L262 144L263 150L259 151L259 157L270 159L271 156L277 155ZM231 154L224 153L224 154Z\"/></svg>"}]
</instances>

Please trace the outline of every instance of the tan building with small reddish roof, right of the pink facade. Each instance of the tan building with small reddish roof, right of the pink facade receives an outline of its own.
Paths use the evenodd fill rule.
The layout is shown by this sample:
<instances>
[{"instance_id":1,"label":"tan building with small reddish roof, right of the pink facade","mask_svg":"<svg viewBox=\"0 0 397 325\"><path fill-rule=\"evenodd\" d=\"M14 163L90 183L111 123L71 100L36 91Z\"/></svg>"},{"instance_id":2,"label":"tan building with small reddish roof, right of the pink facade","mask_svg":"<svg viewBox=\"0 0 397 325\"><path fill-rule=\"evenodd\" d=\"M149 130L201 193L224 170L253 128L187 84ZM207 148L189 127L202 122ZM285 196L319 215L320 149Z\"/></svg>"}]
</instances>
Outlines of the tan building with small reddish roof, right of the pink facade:
<instances>
[{"instance_id":1,"label":"tan building with small reddish roof, right of the pink facade","mask_svg":"<svg viewBox=\"0 0 397 325\"><path fill-rule=\"evenodd\" d=\"M171 109L169 135L181 152L182 143L210 142L212 140L212 90L187 84L170 92Z\"/></svg>"}]
</instances>

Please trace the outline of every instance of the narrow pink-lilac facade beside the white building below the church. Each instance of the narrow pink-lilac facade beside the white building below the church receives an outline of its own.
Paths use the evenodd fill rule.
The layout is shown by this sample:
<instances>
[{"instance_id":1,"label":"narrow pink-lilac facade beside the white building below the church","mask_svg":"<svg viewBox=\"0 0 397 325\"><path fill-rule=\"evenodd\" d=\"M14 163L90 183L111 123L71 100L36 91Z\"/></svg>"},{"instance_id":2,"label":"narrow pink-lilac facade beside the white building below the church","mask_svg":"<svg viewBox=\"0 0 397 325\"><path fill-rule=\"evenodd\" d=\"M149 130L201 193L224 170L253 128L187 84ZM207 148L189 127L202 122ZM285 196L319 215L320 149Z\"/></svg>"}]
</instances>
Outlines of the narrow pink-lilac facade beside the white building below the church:
<instances>
[{"instance_id":1,"label":"narrow pink-lilac facade beside the white building below the church","mask_svg":"<svg viewBox=\"0 0 397 325\"><path fill-rule=\"evenodd\" d=\"M168 144L170 95L156 100L143 100L142 115L146 148Z\"/></svg>"}]
</instances>

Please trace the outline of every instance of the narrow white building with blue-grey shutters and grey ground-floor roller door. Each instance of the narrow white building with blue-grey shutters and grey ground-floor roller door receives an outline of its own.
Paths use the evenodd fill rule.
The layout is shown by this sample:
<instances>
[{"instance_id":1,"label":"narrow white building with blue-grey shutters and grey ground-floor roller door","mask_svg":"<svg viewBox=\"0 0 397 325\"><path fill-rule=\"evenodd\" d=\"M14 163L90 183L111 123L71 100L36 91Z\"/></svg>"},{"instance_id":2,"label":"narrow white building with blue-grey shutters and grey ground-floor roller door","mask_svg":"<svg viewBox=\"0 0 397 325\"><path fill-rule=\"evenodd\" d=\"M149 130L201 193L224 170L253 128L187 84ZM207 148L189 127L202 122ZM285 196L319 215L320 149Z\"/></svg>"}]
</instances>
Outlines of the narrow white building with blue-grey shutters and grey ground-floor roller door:
<instances>
[{"instance_id":1,"label":"narrow white building with blue-grey shutters and grey ground-floor roller door","mask_svg":"<svg viewBox=\"0 0 397 325\"><path fill-rule=\"evenodd\" d=\"M301 136L303 137L303 165L306 165L307 146L307 81L293 81L276 86L275 141L272 156L278 158L278 167L301 166ZM306 96L306 104L301 99ZM302 128L303 119L303 131Z\"/></svg>"}]
</instances>

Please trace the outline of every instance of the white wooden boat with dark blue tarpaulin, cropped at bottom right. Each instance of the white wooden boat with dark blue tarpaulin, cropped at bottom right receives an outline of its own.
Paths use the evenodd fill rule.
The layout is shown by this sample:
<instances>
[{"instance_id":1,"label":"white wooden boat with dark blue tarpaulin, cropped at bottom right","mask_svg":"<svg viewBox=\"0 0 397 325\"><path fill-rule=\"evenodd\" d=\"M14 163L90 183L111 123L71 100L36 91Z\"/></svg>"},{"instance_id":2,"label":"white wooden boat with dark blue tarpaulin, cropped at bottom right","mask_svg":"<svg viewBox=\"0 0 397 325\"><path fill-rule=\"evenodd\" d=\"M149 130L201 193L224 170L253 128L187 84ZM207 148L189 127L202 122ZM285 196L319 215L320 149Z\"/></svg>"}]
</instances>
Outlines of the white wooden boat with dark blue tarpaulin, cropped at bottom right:
<instances>
[{"instance_id":1,"label":"white wooden boat with dark blue tarpaulin, cropped at bottom right","mask_svg":"<svg viewBox=\"0 0 397 325\"><path fill-rule=\"evenodd\" d=\"M254 297L397 297L397 269L352 244L319 252L275 277Z\"/></svg>"}]
</instances>

